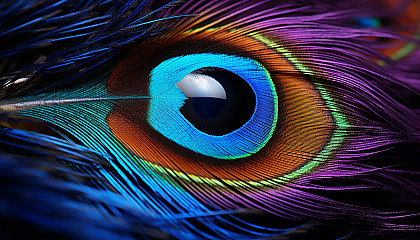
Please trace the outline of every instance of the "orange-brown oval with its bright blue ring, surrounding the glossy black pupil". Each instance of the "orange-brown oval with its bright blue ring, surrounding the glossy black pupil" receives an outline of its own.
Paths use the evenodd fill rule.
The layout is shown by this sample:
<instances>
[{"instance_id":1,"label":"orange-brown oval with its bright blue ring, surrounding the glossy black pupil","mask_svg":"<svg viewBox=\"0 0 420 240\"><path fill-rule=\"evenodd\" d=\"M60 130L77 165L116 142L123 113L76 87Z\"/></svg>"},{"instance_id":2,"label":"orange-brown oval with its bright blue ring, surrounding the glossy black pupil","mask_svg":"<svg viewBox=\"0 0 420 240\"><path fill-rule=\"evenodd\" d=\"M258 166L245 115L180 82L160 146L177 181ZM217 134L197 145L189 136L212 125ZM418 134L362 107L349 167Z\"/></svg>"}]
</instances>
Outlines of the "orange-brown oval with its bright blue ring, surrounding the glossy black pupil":
<instances>
[{"instance_id":1,"label":"orange-brown oval with its bright blue ring, surrounding the glossy black pupil","mask_svg":"<svg viewBox=\"0 0 420 240\"><path fill-rule=\"evenodd\" d=\"M110 130L161 174L212 187L228 182L237 189L276 188L317 170L341 145L334 134L340 121L331 111L336 108L326 104L328 91L312 82L312 69L281 42L271 35L208 29L140 44L112 71L107 87L111 95L147 95L150 101L116 106L107 116ZM251 118L220 136L200 131L182 114L188 96L176 86L191 73L210 75L211 69L237 75L255 95ZM261 90L257 83L268 85ZM255 117L262 119L259 125L249 124Z\"/></svg>"}]
</instances>

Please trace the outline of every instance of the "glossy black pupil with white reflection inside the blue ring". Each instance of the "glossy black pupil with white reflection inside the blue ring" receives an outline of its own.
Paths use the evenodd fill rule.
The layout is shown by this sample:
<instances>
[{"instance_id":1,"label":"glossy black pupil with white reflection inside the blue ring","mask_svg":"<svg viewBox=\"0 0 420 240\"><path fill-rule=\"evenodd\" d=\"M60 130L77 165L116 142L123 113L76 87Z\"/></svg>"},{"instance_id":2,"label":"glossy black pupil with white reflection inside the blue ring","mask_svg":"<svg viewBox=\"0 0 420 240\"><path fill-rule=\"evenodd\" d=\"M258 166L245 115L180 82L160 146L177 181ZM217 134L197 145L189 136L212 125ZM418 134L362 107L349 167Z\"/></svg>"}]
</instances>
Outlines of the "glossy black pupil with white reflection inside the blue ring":
<instances>
[{"instance_id":1,"label":"glossy black pupil with white reflection inside the blue ring","mask_svg":"<svg viewBox=\"0 0 420 240\"><path fill-rule=\"evenodd\" d=\"M184 81L187 79L187 81ZM201 68L177 86L187 96L181 114L198 130L221 136L242 127L255 111L251 86L222 68ZM188 83L188 82L191 82Z\"/></svg>"}]
</instances>

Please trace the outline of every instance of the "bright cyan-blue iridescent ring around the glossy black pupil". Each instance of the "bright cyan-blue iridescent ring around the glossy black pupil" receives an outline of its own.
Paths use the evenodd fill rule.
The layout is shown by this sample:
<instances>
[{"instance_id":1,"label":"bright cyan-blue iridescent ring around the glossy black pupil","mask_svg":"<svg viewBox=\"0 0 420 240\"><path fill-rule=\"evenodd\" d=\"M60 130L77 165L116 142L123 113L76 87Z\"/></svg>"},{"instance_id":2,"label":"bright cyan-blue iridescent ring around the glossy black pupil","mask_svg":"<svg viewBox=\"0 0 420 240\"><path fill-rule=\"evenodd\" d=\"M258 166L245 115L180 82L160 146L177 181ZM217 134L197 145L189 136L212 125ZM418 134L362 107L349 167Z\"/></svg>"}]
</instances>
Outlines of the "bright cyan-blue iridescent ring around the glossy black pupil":
<instances>
[{"instance_id":1,"label":"bright cyan-blue iridescent ring around the glossy black pupil","mask_svg":"<svg viewBox=\"0 0 420 240\"><path fill-rule=\"evenodd\" d=\"M175 84L191 72L217 67L235 73L256 97L252 117L237 130L214 136L195 128L179 111L186 100ZM235 159L259 151L270 139L277 122L278 102L268 71L258 62L224 54L191 54L168 59L150 73L148 122L166 138L197 153Z\"/></svg>"}]
</instances>

